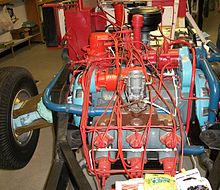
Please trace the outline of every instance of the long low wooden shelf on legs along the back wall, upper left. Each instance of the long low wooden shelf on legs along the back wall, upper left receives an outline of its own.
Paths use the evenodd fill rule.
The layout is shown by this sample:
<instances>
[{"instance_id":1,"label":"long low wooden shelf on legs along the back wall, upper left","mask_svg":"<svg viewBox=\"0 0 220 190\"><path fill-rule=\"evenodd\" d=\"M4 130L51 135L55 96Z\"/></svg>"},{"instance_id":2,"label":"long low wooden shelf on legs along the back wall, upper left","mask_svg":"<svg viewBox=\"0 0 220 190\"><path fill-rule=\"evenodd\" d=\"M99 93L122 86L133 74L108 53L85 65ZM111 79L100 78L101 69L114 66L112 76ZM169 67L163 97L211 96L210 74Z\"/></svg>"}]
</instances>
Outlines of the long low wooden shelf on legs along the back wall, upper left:
<instances>
[{"instance_id":1,"label":"long low wooden shelf on legs along the back wall, upper left","mask_svg":"<svg viewBox=\"0 0 220 190\"><path fill-rule=\"evenodd\" d=\"M7 47L0 49L0 54L6 50L11 49L11 53L12 53L13 57L15 57L14 47L16 47L17 45L22 44L24 42L28 42L28 46L29 46L29 48L31 48L31 40L33 38L38 37L39 35L40 35L40 33L37 33L34 35L30 35L30 36L23 38L23 39L13 40L12 41L13 43L11 45L8 45Z\"/></svg>"}]
</instances>

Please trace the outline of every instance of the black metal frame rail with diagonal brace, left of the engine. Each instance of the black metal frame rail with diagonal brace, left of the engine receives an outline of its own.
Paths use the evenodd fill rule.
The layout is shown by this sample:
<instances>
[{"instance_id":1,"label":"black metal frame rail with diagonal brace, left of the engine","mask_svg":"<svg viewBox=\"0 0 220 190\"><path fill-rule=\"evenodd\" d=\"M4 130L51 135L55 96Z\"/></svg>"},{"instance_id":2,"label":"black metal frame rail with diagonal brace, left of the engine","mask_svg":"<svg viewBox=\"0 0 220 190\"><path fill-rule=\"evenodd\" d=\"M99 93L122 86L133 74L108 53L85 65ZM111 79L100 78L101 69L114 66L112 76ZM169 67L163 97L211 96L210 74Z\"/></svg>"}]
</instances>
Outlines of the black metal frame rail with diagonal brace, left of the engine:
<instances>
[{"instance_id":1,"label":"black metal frame rail with diagonal brace, left of the engine","mask_svg":"<svg viewBox=\"0 0 220 190\"><path fill-rule=\"evenodd\" d=\"M68 65L66 65L51 93L51 100L54 102L65 102L69 72ZM68 114L53 112L53 125L55 133L54 161L44 189L66 190L69 181L74 189L92 189L76 160L74 151L67 142Z\"/></svg>"}]
</instances>

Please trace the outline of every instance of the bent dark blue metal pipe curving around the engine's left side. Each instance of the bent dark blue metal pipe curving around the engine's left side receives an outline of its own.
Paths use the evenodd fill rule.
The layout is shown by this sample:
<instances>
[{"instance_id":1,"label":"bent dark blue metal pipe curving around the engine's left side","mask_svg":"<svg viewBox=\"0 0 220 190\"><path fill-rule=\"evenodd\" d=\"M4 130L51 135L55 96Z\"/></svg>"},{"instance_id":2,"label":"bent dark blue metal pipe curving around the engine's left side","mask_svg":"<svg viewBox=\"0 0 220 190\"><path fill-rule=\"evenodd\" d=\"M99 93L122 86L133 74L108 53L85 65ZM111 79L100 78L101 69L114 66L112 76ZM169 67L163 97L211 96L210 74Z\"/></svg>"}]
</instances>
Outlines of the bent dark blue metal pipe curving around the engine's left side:
<instances>
[{"instance_id":1,"label":"bent dark blue metal pipe curving around the engine's left side","mask_svg":"<svg viewBox=\"0 0 220 190\"><path fill-rule=\"evenodd\" d=\"M56 74L56 76L54 77L53 80L51 80L51 82L49 83L49 85L47 86L47 88L45 89L44 93L43 93L43 103L44 105L52 111L55 112L65 112L65 113L72 113L72 114L76 114L76 115L81 115L82 114L82 106L80 105L75 105L75 104L56 104L54 102L52 102L50 100L50 95L51 95L51 91L54 87L54 85L56 84L56 82L58 81L61 73L63 72L63 70L65 69L66 65L62 67L62 69ZM100 116L106 109L105 108L95 108L90 106L88 109L88 115L89 116ZM112 109L109 108L106 111L106 114L110 114L112 112Z\"/></svg>"}]
</instances>

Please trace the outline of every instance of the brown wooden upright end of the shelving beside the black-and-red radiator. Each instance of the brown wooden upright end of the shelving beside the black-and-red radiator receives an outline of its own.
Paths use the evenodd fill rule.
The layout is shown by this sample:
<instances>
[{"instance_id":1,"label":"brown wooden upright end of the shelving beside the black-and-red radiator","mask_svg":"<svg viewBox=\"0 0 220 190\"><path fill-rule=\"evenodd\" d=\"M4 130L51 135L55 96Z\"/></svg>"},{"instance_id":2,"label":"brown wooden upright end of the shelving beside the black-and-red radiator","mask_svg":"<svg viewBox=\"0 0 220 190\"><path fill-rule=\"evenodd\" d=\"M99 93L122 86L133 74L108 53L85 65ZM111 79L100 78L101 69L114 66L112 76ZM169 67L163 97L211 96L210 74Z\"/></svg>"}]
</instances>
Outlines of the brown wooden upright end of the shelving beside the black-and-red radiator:
<instances>
[{"instance_id":1,"label":"brown wooden upright end of the shelving beside the black-and-red radiator","mask_svg":"<svg viewBox=\"0 0 220 190\"><path fill-rule=\"evenodd\" d=\"M40 33L38 36L35 36L32 40L36 42L44 42L44 36L43 36L43 20L42 20L42 6L45 3L52 3L54 0L25 0L25 9L26 9L26 14L27 14L27 19L29 21L35 22L39 28L40 28Z\"/></svg>"}]
</instances>

